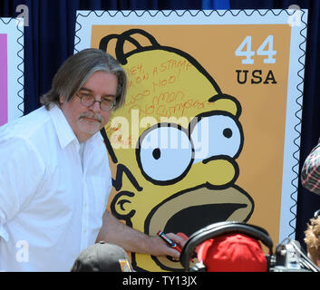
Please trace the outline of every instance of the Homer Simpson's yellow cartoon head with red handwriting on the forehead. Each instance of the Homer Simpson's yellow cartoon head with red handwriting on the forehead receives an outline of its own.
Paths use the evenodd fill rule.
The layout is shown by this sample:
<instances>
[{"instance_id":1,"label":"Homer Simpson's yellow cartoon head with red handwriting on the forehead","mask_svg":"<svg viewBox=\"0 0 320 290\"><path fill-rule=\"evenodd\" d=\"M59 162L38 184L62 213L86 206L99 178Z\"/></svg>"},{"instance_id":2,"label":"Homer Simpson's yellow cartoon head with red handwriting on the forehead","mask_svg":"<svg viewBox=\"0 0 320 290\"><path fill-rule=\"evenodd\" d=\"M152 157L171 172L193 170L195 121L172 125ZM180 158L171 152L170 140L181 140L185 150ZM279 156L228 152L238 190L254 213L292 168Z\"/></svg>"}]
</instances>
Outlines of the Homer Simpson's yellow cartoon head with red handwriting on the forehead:
<instances>
[{"instance_id":1,"label":"Homer Simpson's yellow cartoon head with red handwriting on the forehead","mask_svg":"<svg viewBox=\"0 0 320 290\"><path fill-rule=\"evenodd\" d=\"M119 51L123 38L134 43L134 34L151 45ZM237 99L220 92L189 54L160 46L141 30L118 35L118 42L121 37L116 54L130 86L104 134L112 214L148 235L163 230L189 236L214 222L247 221L254 203L235 185L244 141ZM131 259L136 270L182 270L165 256L132 253Z\"/></svg>"}]
</instances>

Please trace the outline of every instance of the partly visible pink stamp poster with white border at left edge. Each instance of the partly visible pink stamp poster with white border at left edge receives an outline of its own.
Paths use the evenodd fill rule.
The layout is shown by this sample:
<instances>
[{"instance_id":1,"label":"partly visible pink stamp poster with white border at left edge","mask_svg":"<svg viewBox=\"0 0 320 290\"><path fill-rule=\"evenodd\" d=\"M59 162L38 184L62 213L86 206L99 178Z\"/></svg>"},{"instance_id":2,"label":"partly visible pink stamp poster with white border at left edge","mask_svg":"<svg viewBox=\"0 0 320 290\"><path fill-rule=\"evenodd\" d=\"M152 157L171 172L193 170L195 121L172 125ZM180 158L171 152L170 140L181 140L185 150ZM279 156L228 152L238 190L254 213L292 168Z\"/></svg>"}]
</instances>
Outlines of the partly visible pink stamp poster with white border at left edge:
<instances>
[{"instance_id":1,"label":"partly visible pink stamp poster with white border at left edge","mask_svg":"<svg viewBox=\"0 0 320 290\"><path fill-rule=\"evenodd\" d=\"M24 114L24 21L0 18L0 126Z\"/></svg>"}]
</instances>

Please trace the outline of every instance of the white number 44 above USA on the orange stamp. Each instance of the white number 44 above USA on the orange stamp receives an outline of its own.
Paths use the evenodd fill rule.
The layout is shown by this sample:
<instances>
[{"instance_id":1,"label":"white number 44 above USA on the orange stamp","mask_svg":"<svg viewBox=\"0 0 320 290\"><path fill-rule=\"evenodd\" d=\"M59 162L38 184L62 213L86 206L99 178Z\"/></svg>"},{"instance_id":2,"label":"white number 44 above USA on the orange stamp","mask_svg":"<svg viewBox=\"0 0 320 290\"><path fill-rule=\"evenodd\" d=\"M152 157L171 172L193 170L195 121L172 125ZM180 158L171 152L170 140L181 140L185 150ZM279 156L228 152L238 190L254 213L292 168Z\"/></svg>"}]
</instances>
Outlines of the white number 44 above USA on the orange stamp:
<instances>
[{"instance_id":1,"label":"white number 44 above USA on the orange stamp","mask_svg":"<svg viewBox=\"0 0 320 290\"><path fill-rule=\"evenodd\" d=\"M245 46L247 45L247 50ZM268 35L265 41L257 49L257 55L267 55L267 58L264 59L264 63L276 63L276 59L273 58L276 55L276 51L273 50L274 47L274 35ZM267 48L267 49L266 49ZM237 56L246 56L246 59L242 60L243 64L253 64L255 60L252 59L252 56L255 55L255 52L251 51L251 36L247 36L244 41L238 46L236 50Z\"/></svg>"}]
</instances>

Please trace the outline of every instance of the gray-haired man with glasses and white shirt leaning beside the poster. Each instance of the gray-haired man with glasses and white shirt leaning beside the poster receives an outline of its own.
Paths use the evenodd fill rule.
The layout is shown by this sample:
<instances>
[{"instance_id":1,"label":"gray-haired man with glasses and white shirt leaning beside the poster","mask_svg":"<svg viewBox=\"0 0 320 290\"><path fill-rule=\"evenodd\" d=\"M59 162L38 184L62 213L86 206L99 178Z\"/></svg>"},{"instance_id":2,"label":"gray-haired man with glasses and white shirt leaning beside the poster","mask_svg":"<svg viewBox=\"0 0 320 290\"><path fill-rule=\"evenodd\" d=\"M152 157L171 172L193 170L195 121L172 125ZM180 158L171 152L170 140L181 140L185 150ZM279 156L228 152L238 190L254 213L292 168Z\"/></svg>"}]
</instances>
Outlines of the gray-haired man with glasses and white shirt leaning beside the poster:
<instances>
[{"instance_id":1,"label":"gray-haired man with glasses and white shirt leaning beside the poster","mask_svg":"<svg viewBox=\"0 0 320 290\"><path fill-rule=\"evenodd\" d=\"M83 50L55 74L43 107L0 128L0 270L70 271L96 240L179 258L104 212L112 178L100 130L126 85L112 56Z\"/></svg>"}]
</instances>

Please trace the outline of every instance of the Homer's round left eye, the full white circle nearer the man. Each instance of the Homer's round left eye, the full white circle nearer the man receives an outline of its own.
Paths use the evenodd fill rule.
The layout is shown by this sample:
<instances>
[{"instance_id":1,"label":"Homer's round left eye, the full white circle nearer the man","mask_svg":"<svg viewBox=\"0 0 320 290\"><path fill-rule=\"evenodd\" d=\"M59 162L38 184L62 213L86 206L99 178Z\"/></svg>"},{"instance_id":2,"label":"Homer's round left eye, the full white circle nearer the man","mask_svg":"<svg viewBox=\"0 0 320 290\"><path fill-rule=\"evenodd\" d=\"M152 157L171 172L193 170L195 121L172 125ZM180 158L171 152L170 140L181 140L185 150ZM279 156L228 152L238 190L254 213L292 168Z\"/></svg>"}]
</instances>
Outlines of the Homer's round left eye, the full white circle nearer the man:
<instances>
[{"instance_id":1,"label":"Homer's round left eye, the full white circle nearer the man","mask_svg":"<svg viewBox=\"0 0 320 290\"><path fill-rule=\"evenodd\" d=\"M155 184L172 184L187 174L193 149L187 133L177 125L160 125L141 134L137 160L146 179Z\"/></svg>"}]
</instances>

